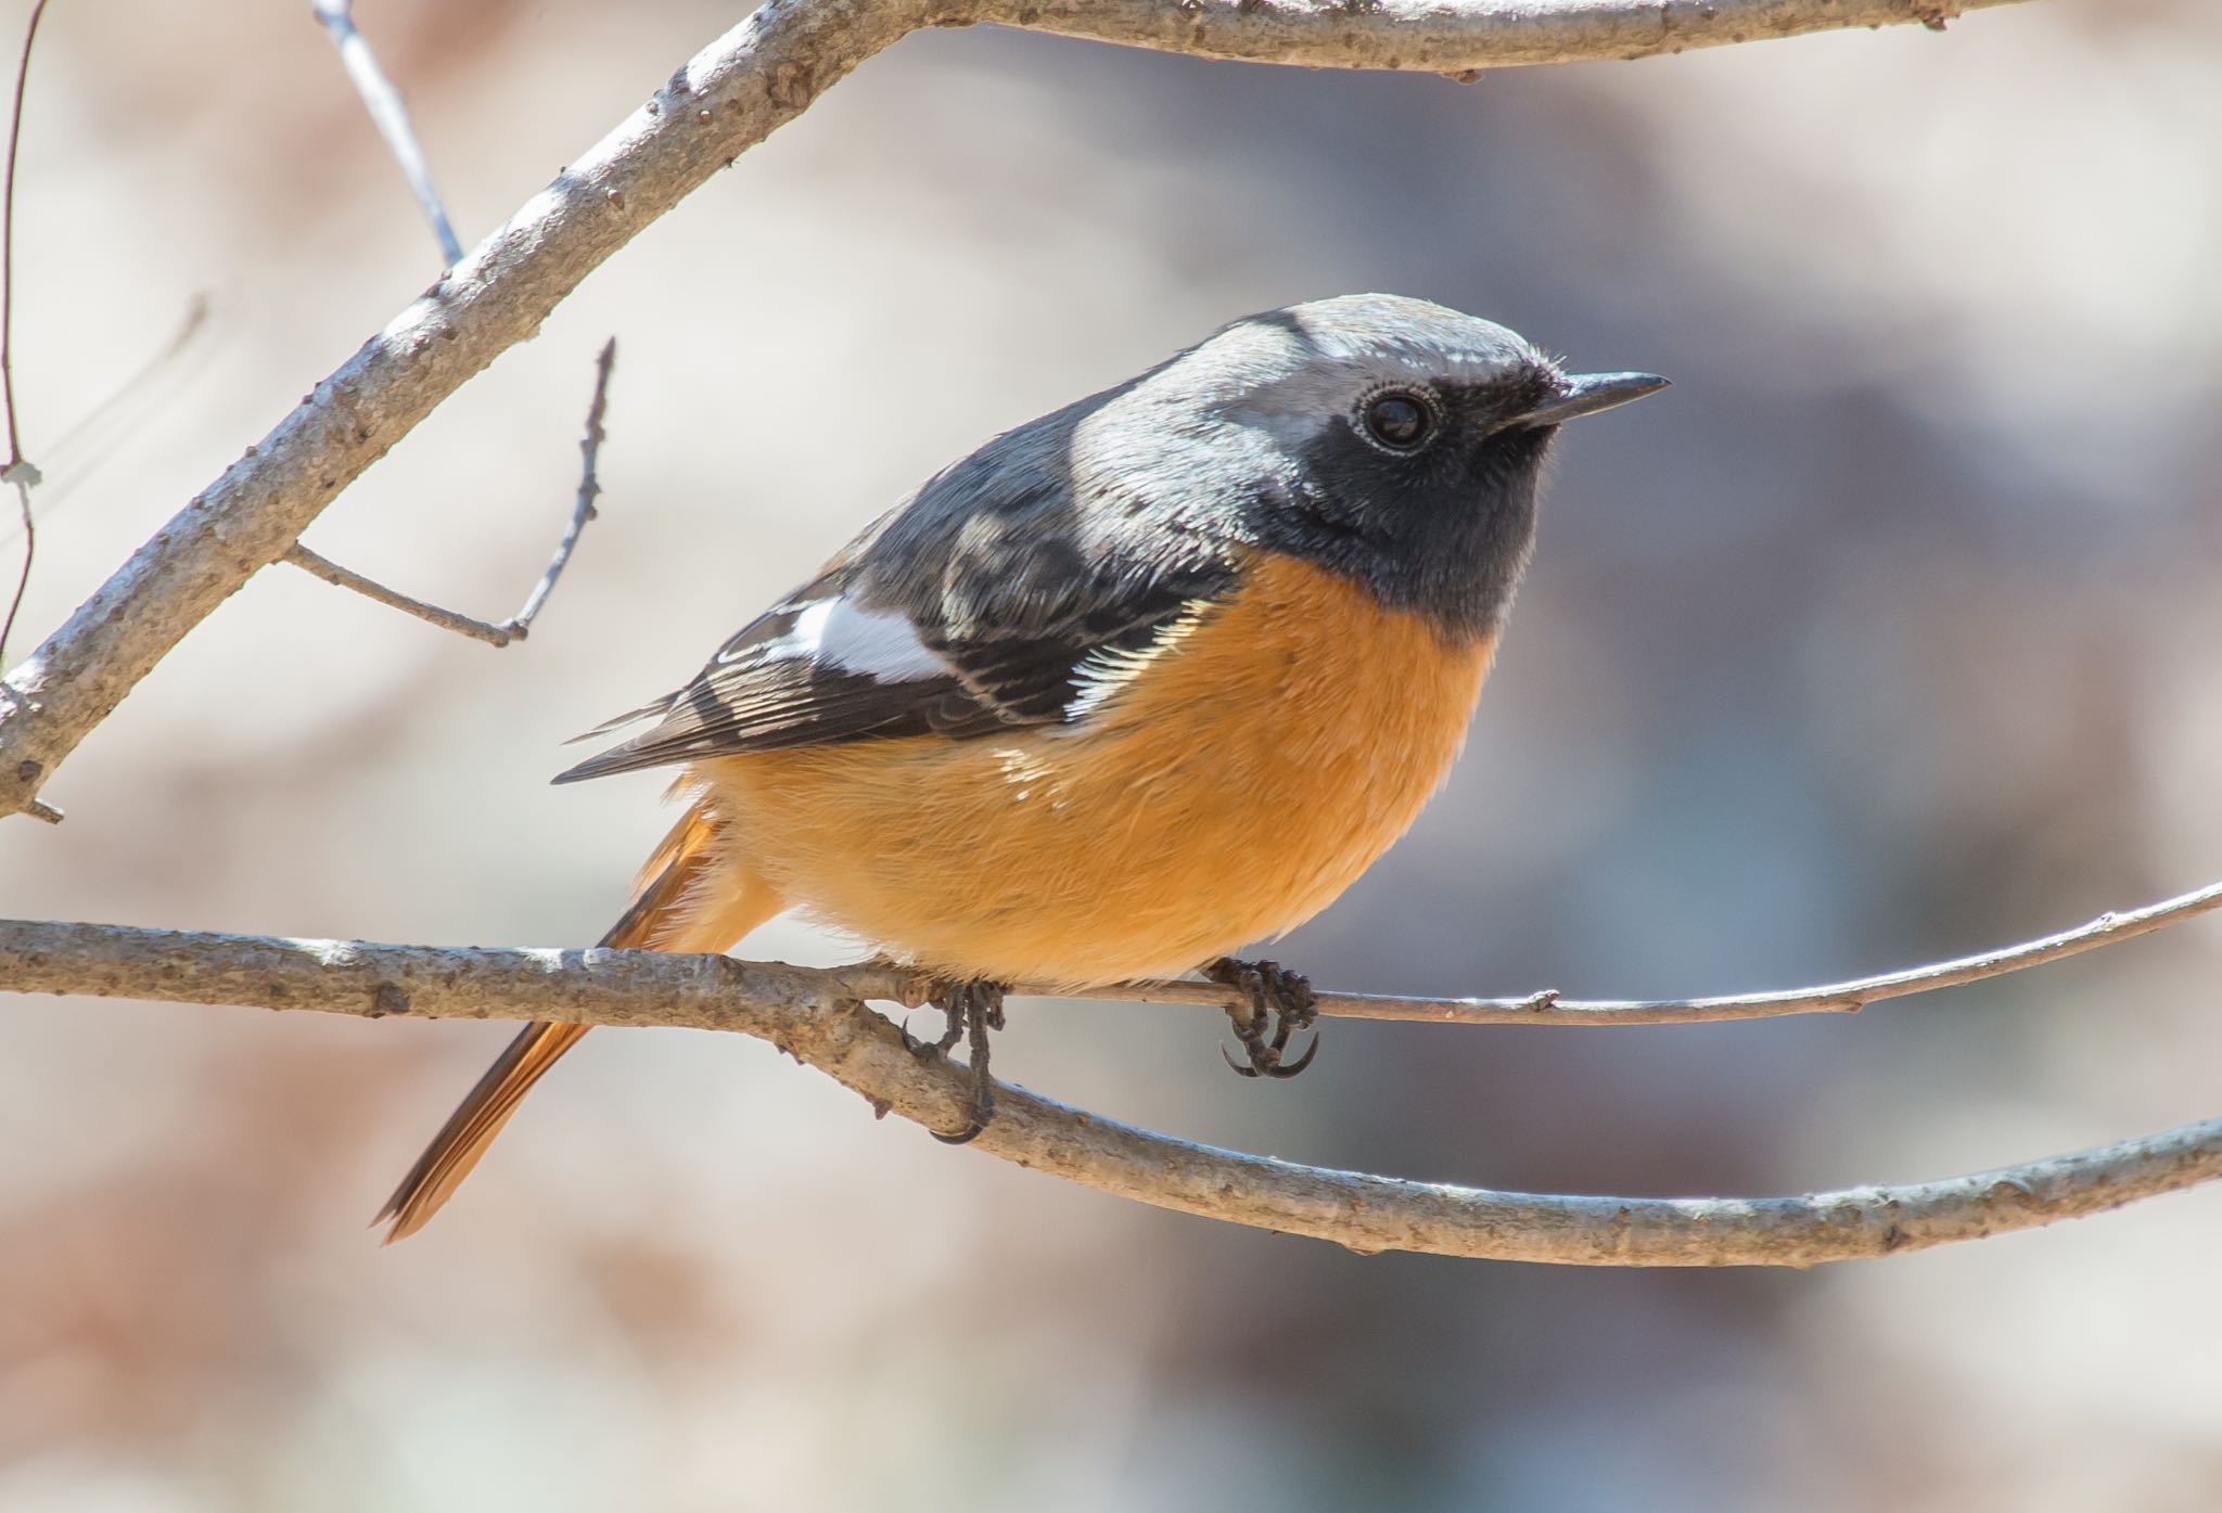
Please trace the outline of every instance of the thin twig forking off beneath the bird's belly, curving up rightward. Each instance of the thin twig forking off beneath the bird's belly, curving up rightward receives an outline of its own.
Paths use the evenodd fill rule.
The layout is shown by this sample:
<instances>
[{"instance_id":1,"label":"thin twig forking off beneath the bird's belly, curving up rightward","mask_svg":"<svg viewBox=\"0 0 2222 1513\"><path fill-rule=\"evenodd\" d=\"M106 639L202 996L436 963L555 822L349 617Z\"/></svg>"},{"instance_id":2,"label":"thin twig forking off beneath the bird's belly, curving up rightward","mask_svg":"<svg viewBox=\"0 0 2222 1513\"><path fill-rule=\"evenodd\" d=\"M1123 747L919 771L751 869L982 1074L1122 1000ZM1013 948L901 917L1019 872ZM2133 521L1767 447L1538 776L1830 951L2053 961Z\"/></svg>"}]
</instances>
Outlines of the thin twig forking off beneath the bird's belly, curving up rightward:
<instances>
[{"instance_id":1,"label":"thin twig forking off beneath the bird's belly, curving up rightward","mask_svg":"<svg viewBox=\"0 0 2222 1513\"><path fill-rule=\"evenodd\" d=\"M2066 955L2131 940L2164 924L2222 909L2222 882L2166 898L2129 913L2102 913L2058 935L2026 940L1951 962L1906 966L1873 978L1811 989L1782 989L1740 998L1560 998L1553 991L1527 998L1389 998L1382 993L1320 993L1320 1013L1342 1020L1407 1020L1422 1024L1713 1024L1720 1020L1773 1020L1786 1013L1853 1013L1884 998L1955 989L1984 978L2002 978L2024 966L2042 966ZM1020 986L1018 993L1038 993ZM1102 989L1062 989L1058 998L1115 998L1144 1004L1224 1004L1227 989L1211 982L1118 982Z\"/></svg>"}]
</instances>

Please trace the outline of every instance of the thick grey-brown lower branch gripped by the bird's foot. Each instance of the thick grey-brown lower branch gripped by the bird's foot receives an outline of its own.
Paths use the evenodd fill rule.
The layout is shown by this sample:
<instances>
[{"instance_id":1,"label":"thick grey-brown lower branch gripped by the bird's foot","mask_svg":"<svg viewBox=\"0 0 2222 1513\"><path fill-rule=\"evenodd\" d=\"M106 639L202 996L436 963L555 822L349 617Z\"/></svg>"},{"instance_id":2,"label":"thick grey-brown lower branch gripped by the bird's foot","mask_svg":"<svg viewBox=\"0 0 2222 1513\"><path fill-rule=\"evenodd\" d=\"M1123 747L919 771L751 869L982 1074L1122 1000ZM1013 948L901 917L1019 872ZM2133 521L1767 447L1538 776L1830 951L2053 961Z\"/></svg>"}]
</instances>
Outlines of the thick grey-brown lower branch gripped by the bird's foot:
<instances>
[{"instance_id":1,"label":"thick grey-brown lower branch gripped by the bird's foot","mask_svg":"<svg viewBox=\"0 0 2222 1513\"><path fill-rule=\"evenodd\" d=\"M0 982L22 993L322 1013L689 1024L780 1046L875 1113L969 1120L971 1082L922 1062L862 1006L900 973L827 973L722 955L489 951L200 935L113 924L0 924ZM1300 1166L1189 1144L1000 1084L973 1149L1020 1166L1353 1251L1582 1266L1813 1266L2035 1229L2222 1175L2222 1120L1966 1178L1798 1198L1500 1193Z\"/></svg>"}]
</instances>

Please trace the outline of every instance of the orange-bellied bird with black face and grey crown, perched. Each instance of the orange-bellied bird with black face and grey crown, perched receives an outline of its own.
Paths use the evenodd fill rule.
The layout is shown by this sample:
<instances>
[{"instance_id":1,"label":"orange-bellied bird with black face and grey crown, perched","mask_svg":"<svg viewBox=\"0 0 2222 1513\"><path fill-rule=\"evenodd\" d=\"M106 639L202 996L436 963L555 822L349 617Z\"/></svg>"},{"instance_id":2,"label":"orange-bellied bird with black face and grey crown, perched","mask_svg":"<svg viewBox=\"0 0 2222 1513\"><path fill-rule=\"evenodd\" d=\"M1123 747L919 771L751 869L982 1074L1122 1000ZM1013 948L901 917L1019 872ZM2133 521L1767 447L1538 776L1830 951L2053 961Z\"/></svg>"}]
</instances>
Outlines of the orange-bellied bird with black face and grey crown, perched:
<instances>
[{"instance_id":1,"label":"orange-bellied bird with black face and grey crown, perched","mask_svg":"<svg viewBox=\"0 0 2222 1513\"><path fill-rule=\"evenodd\" d=\"M724 951L782 911L935 975L978 1133L1002 984L1202 966L1249 1075L1302 978L1227 953L1413 822L1535 540L1560 422L1649 373L1364 293L1238 320L933 475L644 724L558 782L678 766L684 818L609 946ZM420 1229L582 1024L533 1024L396 1189ZM1318 1049L1318 1042L1313 1042ZM1304 1060L1309 1060L1309 1051Z\"/></svg>"}]
</instances>

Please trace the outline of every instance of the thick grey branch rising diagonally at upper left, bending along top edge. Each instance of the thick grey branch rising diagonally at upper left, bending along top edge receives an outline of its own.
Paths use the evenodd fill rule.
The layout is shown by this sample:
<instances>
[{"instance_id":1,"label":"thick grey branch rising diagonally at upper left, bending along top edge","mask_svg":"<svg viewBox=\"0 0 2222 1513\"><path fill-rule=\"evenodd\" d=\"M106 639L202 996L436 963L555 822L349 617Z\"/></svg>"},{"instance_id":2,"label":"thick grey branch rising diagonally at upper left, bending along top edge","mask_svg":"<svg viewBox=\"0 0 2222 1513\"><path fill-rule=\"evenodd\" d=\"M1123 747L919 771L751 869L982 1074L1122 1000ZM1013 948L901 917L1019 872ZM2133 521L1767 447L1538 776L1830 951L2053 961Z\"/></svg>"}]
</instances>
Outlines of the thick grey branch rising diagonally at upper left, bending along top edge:
<instances>
[{"instance_id":1,"label":"thick grey branch rising diagonally at upper left, bending along top edge","mask_svg":"<svg viewBox=\"0 0 2222 1513\"><path fill-rule=\"evenodd\" d=\"M538 331L604 258L920 27L1002 22L1211 58L1471 73L1833 27L1935 27L2015 2L769 0L364 342L0 682L0 815L36 811L40 784L187 631L280 560L442 400Z\"/></svg>"}]
</instances>

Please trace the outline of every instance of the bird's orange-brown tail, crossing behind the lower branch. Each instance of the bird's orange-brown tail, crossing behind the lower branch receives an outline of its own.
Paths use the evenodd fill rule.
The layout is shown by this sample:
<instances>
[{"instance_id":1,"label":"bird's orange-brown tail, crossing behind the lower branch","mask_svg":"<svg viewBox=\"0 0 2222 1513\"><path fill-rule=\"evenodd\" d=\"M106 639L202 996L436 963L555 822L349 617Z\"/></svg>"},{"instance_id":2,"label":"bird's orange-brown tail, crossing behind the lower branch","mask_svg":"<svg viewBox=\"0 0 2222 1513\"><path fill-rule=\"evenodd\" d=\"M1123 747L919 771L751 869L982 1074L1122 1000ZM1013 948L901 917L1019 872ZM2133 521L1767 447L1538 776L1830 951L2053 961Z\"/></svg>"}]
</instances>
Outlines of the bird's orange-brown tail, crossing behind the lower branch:
<instances>
[{"instance_id":1,"label":"bird's orange-brown tail, crossing behind the lower branch","mask_svg":"<svg viewBox=\"0 0 2222 1513\"><path fill-rule=\"evenodd\" d=\"M642 869L647 880L640 898L607 935L604 946L647 946L649 951L724 951L735 940L784 909L771 884L735 866L711 844L718 820L700 802L671 829ZM587 1024L529 1024L509 1042L500 1060L487 1069L462 1104L447 1118L440 1133L424 1146L393 1198L378 1211L373 1224L393 1220L384 1244L424 1229L478 1158L487 1153L502 1124L518 1111L533 1082L578 1044Z\"/></svg>"}]
</instances>

